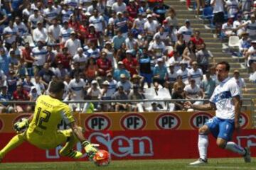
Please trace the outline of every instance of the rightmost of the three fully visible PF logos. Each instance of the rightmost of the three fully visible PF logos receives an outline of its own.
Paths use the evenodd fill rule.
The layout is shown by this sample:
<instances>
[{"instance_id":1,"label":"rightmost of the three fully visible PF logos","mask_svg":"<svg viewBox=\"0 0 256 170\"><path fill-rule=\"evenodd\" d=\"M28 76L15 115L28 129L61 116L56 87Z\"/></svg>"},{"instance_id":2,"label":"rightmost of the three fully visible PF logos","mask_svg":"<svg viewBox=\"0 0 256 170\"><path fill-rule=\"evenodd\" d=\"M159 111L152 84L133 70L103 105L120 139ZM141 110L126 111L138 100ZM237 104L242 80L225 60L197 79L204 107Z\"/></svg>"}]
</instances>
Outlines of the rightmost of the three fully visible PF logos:
<instances>
[{"instance_id":1,"label":"rightmost of the three fully visible PF logos","mask_svg":"<svg viewBox=\"0 0 256 170\"><path fill-rule=\"evenodd\" d=\"M179 125L181 125L181 119L171 113L164 113L156 118L156 126L160 130L177 129Z\"/></svg>"}]
</instances>

